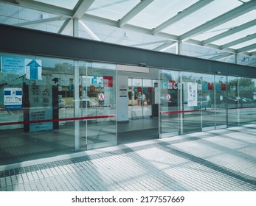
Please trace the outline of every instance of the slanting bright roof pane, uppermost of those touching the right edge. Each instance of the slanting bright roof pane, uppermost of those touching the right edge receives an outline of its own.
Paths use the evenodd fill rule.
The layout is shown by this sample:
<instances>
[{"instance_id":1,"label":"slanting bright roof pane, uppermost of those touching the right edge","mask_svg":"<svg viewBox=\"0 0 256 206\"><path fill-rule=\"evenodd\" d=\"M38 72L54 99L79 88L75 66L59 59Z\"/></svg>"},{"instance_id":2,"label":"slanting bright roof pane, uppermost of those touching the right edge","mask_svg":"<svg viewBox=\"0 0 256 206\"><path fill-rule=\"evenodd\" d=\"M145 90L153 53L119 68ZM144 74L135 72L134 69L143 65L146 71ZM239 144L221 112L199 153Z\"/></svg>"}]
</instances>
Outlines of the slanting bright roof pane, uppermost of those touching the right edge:
<instances>
[{"instance_id":1,"label":"slanting bright roof pane, uppermost of those touching the right edge","mask_svg":"<svg viewBox=\"0 0 256 206\"><path fill-rule=\"evenodd\" d=\"M249 13L243 14L238 18L234 18L231 21L226 22L225 24L221 24L220 26L216 26L214 29L210 29L207 32L204 32L193 39L195 40L206 40L207 38L212 38L215 35L218 35L222 32L226 32L229 29L232 29L236 26L241 26L242 24L246 24L246 22L252 21L256 19L256 10L252 10ZM234 39L235 40L235 39Z\"/></svg>"}]
</instances>

